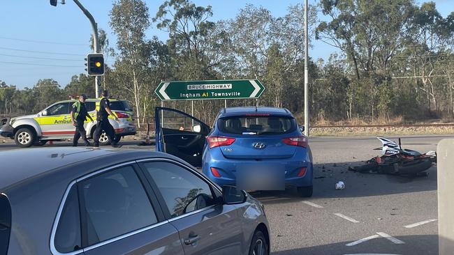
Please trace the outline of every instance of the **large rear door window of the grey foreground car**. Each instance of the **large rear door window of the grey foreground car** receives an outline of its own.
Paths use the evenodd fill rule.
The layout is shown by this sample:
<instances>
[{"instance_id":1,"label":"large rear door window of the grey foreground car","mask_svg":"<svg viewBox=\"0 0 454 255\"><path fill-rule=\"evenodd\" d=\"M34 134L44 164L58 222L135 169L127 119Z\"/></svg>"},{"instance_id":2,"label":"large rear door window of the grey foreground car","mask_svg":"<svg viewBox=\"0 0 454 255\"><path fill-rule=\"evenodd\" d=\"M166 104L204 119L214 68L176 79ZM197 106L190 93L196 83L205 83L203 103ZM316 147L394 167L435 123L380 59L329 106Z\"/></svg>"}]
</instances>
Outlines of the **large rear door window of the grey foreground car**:
<instances>
[{"instance_id":1,"label":"large rear door window of the grey foreground car","mask_svg":"<svg viewBox=\"0 0 454 255\"><path fill-rule=\"evenodd\" d=\"M157 223L152 203L133 167L122 167L80 184L88 245Z\"/></svg>"}]
</instances>

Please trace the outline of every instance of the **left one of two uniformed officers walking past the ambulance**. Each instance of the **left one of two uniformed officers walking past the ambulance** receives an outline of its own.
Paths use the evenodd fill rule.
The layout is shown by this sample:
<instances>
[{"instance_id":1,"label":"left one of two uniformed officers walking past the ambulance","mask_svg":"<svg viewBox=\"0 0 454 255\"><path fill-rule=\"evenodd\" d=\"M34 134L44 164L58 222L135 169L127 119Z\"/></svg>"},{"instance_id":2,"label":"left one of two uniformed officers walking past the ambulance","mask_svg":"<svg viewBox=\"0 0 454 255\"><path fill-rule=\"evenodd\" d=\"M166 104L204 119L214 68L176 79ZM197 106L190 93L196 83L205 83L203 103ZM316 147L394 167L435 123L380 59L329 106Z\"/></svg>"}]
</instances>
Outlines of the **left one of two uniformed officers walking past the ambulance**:
<instances>
[{"instance_id":1,"label":"left one of two uniformed officers walking past the ambulance","mask_svg":"<svg viewBox=\"0 0 454 255\"><path fill-rule=\"evenodd\" d=\"M87 120L87 117L91 120L91 122L93 122L93 118L91 118L91 116L87 112L87 107L85 107L85 100L87 100L87 95L80 95L79 100L73 104L73 108L71 109L71 121L75 126L73 146L78 146L78 140L80 137L82 137L82 140L85 141L85 146L91 146L91 144L87 140L84 123Z\"/></svg>"}]
</instances>

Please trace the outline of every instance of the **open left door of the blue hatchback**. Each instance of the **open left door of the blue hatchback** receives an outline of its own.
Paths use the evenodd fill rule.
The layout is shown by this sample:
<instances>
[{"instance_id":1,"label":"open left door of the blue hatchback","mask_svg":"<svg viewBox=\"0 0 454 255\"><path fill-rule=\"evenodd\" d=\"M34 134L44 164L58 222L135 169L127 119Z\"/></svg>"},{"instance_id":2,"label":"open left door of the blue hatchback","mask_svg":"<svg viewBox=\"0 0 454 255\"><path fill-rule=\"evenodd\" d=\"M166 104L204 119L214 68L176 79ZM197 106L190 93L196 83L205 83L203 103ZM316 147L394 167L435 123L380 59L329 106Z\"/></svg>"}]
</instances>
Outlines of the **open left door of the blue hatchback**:
<instances>
[{"instance_id":1,"label":"open left door of the blue hatchback","mask_svg":"<svg viewBox=\"0 0 454 255\"><path fill-rule=\"evenodd\" d=\"M205 138L210 127L176 109L156 107L156 150L180 157L194 167L202 167Z\"/></svg>"}]
</instances>

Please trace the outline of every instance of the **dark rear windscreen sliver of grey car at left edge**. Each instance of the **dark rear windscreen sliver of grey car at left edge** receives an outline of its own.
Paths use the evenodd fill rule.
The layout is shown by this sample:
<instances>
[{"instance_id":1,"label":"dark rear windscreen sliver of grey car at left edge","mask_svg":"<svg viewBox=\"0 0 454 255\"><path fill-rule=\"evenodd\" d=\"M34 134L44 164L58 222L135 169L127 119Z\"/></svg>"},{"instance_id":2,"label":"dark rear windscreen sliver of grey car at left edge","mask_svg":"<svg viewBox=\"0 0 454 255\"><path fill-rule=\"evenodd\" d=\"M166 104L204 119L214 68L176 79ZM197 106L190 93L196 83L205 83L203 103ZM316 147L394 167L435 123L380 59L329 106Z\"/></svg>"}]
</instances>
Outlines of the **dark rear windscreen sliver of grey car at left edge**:
<instances>
[{"instance_id":1,"label":"dark rear windscreen sliver of grey car at left edge","mask_svg":"<svg viewBox=\"0 0 454 255\"><path fill-rule=\"evenodd\" d=\"M0 255L8 253L11 233L11 208L8 198L0 194Z\"/></svg>"}]
</instances>

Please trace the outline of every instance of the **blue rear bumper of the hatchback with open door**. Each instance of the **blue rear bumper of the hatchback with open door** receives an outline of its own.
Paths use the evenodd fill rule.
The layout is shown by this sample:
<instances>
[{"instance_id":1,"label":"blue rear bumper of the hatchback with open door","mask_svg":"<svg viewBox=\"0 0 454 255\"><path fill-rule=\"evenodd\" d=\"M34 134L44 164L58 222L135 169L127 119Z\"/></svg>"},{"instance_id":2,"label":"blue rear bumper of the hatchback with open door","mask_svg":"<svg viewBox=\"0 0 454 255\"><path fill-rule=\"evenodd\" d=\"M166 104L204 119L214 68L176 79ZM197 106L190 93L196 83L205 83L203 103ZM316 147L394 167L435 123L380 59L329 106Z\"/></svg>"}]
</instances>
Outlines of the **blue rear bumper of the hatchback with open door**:
<instances>
[{"instance_id":1,"label":"blue rear bumper of the hatchback with open door","mask_svg":"<svg viewBox=\"0 0 454 255\"><path fill-rule=\"evenodd\" d=\"M208 176L214 183L220 186L223 185L236 185L237 180L237 168L242 166L250 166L254 164L254 167L270 167L270 165L279 166L278 171L285 171L285 185L293 187L305 187L312 186L313 181L313 166L312 162L306 153L295 153L295 155L289 159L272 159L272 160L232 160L226 159L222 155L217 155L217 150L214 153L205 152L203 160L203 173ZM211 167L214 167L221 177L214 176L211 171ZM298 176L302 167L306 168L305 174Z\"/></svg>"}]
</instances>

